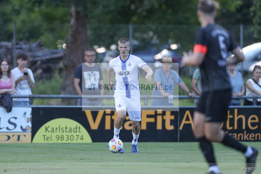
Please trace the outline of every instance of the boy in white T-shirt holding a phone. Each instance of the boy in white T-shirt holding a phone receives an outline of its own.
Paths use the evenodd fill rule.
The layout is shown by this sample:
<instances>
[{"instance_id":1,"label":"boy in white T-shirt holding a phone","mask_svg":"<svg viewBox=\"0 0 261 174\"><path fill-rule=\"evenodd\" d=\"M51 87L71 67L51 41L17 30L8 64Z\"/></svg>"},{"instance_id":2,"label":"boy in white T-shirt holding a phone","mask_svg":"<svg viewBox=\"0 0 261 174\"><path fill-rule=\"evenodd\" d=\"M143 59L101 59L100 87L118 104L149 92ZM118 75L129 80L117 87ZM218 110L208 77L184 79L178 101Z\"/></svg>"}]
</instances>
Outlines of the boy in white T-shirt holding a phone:
<instances>
[{"instance_id":1,"label":"boy in white T-shirt holding a phone","mask_svg":"<svg viewBox=\"0 0 261 174\"><path fill-rule=\"evenodd\" d=\"M25 53L17 55L18 66L12 70L15 79L15 94L14 95L31 95L31 88L35 86L35 80L32 70L26 68L28 57ZM26 106L29 104L28 98L13 98L14 106Z\"/></svg>"}]
</instances>

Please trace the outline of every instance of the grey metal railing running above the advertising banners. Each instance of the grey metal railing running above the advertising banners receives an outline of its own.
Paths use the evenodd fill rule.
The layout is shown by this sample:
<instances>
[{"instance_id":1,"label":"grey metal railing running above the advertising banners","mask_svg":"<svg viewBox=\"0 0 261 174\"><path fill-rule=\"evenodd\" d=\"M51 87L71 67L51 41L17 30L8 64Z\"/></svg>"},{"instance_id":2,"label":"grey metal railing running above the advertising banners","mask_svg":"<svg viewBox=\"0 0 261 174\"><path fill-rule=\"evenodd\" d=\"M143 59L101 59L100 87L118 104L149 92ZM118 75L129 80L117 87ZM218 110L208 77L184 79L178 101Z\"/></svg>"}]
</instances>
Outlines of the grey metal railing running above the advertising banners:
<instances>
[{"instance_id":1,"label":"grey metal railing running above the advertising banners","mask_svg":"<svg viewBox=\"0 0 261 174\"><path fill-rule=\"evenodd\" d=\"M113 99L113 95L11 95L12 98L29 98L29 104L33 105L33 99ZM0 95L1 98L1 95ZM144 99L144 106L148 106L148 99L164 99L163 96L141 95L141 99ZM194 99L198 99L200 96L195 96ZM253 99L253 106L256 106L257 99L261 96L233 96L232 99ZM173 99L191 99L186 95L173 95Z\"/></svg>"}]
</instances>

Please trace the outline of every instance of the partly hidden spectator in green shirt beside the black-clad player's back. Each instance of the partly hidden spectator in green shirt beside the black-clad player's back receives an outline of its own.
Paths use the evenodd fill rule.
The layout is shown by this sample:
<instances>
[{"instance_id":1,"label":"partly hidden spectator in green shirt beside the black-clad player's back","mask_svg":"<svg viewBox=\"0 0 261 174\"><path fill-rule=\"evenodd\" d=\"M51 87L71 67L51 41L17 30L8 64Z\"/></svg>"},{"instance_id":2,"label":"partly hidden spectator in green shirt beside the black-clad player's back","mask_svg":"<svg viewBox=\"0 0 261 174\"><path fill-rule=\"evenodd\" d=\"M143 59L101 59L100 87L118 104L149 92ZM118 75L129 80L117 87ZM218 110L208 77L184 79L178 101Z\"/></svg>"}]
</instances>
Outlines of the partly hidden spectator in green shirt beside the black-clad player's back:
<instances>
[{"instance_id":1,"label":"partly hidden spectator in green shirt beside the black-clad player's back","mask_svg":"<svg viewBox=\"0 0 261 174\"><path fill-rule=\"evenodd\" d=\"M199 96L202 93L202 84L201 84L201 74L200 74L200 68L197 68L192 76L191 81L191 88L195 95ZM195 104L197 106L198 99L195 99Z\"/></svg>"}]
</instances>

